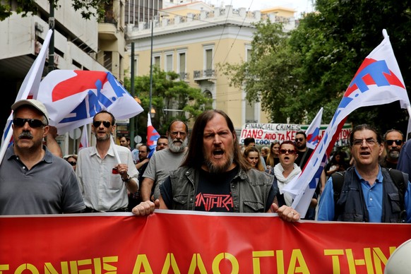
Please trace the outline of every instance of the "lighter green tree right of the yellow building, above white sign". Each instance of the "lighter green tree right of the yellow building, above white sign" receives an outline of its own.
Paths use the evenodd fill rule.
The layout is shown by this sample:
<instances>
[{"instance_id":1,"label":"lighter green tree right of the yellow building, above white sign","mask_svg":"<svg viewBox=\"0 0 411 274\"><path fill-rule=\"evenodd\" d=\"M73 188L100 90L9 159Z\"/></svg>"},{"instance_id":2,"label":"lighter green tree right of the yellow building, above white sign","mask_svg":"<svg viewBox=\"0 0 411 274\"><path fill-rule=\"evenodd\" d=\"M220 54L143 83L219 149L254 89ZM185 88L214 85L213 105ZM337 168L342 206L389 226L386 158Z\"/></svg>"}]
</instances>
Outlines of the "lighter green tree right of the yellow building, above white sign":
<instances>
[{"instance_id":1,"label":"lighter green tree right of the yellow building, above white sign","mask_svg":"<svg viewBox=\"0 0 411 274\"><path fill-rule=\"evenodd\" d=\"M287 121L287 101L297 93L292 71L299 61L287 46L289 37L282 25L256 24L251 42L251 60L242 64L219 64L230 83L246 90L249 102L261 102L263 110L276 122Z\"/></svg>"}]
</instances>

